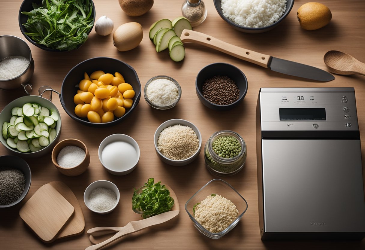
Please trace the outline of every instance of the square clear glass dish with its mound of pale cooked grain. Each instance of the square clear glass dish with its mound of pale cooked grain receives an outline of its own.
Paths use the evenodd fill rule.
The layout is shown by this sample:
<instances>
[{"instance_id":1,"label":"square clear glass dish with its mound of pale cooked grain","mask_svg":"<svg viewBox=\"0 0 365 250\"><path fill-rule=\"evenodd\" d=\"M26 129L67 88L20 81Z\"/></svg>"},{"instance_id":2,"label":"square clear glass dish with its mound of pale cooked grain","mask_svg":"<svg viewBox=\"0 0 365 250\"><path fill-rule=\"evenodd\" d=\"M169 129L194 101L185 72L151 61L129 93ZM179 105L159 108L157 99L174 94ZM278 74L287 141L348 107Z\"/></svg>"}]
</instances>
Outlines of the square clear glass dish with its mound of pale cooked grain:
<instances>
[{"instance_id":1,"label":"square clear glass dish with its mound of pale cooked grain","mask_svg":"<svg viewBox=\"0 0 365 250\"><path fill-rule=\"evenodd\" d=\"M246 210L245 198L222 179L205 184L185 204L193 225L211 239L220 239L231 231Z\"/></svg>"}]
</instances>

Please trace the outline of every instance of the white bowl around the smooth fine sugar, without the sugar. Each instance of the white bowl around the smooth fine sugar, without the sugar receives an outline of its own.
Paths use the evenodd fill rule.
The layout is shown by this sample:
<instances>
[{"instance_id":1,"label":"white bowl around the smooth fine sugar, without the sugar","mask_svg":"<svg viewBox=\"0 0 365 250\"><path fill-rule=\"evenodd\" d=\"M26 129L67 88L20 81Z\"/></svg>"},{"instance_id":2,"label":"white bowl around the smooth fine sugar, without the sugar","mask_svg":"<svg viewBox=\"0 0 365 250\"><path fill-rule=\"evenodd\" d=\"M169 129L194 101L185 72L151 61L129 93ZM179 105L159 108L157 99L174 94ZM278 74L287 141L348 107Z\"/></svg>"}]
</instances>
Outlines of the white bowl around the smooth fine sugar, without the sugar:
<instances>
[{"instance_id":1,"label":"white bowl around the smooth fine sugar, without the sugar","mask_svg":"<svg viewBox=\"0 0 365 250\"><path fill-rule=\"evenodd\" d=\"M136 162L129 168L126 168L124 170L115 170L112 169L110 166L108 166L108 164L106 162L103 161L101 155L103 152L103 149L110 143L116 142L116 141L123 141L126 142L130 145L132 145L134 147L134 149L137 152L137 160ZM101 162L101 164L106 168L106 170L108 170L109 173L114 174L114 175L126 175L131 173L134 168L137 166L137 163L139 161L139 156L140 156L140 151L139 151L139 146L137 141L135 141L132 137L127 136L127 135L123 135L123 134L114 134L114 135L110 135L108 137L106 137L103 141L101 141L100 146L99 146L99 160ZM120 156L120 164L123 164L123 156Z\"/></svg>"}]
</instances>

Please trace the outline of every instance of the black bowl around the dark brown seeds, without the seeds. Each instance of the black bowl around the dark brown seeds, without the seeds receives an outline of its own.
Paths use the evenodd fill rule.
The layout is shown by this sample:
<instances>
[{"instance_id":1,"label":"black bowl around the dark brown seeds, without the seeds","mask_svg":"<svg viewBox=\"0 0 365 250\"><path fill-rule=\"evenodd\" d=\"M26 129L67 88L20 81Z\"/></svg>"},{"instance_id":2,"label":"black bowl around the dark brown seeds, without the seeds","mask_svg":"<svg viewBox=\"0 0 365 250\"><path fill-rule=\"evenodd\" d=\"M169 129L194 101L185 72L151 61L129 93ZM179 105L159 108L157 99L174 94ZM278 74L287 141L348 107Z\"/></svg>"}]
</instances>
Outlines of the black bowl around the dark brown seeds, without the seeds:
<instances>
[{"instance_id":1,"label":"black bowl around the dark brown seeds, without the seeds","mask_svg":"<svg viewBox=\"0 0 365 250\"><path fill-rule=\"evenodd\" d=\"M237 101L228 105L217 105L204 98L201 91L201 86L206 80L214 76L228 76L235 81L237 87L239 88L239 98ZM198 96L201 103L213 110L227 110L237 106L238 103L240 103L243 98L245 98L247 88L248 85L245 74L239 68L228 63L212 63L205 66L199 71L195 80L196 95Z\"/></svg>"}]
</instances>

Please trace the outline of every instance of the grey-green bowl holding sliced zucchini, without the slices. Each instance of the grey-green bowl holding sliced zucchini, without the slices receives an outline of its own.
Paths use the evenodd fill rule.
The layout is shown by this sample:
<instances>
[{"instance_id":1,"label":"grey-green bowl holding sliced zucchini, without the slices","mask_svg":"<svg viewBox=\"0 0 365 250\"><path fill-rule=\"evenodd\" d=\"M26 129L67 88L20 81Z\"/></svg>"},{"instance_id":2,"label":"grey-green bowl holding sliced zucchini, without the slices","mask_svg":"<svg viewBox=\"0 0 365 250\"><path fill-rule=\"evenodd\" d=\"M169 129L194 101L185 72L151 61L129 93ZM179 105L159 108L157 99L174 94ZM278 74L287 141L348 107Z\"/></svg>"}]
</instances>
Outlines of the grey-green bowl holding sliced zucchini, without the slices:
<instances>
[{"instance_id":1,"label":"grey-green bowl holding sliced zucchini, without the slices","mask_svg":"<svg viewBox=\"0 0 365 250\"><path fill-rule=\"evenodd\" d=\"M47 107L48 109L53 109L53 110L57 111L58 121L56 123L56 128L55 128L56 132L57 132L57 136L47 147L45 147L37 152L27 152L27 153L19 152L18 150L8 146L3 135L0 135L0 142L4 145L4 147L6 149L8 149L9 152L11 152L14 155L20 156L22 158L39 157L39 156L45 155L48 152L52 151L53 147L57 144L57 142L59 140L59 136L61 134L61 115L59 114L57 107L51 101L47 100L46 98L43 98L38 95L27 95L27 96L22 96L22 97L19 97L18 99L15 99L14 101L10 102L8 105L6 105L4 107L4 109L0 113L1 126L3 125L4 121L9 122L10 118L12 117L12 115L11 115L12 108L22 107L25 103L38 103L42 107L44 106L44 107Z\"/></svg>"}]
</instances>

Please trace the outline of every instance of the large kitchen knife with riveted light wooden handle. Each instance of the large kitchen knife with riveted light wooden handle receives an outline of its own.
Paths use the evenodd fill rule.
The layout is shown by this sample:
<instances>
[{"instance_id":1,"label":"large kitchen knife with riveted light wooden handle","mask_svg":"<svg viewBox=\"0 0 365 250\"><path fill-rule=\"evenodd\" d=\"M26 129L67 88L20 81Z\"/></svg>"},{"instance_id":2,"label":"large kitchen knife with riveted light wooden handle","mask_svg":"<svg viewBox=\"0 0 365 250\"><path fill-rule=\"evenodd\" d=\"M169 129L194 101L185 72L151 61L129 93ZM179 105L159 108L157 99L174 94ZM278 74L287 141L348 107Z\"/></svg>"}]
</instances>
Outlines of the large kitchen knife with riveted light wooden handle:
<instances>
[{"instance_id":1,"label":"large kitchen knife with riveted light wooden handle","mask_svg":"<svg viewBox=\"0 0 365 250\"><path fill-rule=\"evenodd\" d=\"M272 71L286 75L302 77L321 82L334 80L335 77L330 73L306 64L288 61L266 54L258 53L253 50L244 49L227 42L223 42L210 35L193 30L183 30L180 36L181 42L193 42L207 46L220 52L229 54L239 59L260 65L264 68L270 68Z\"/></svg>"}]
</instances>

